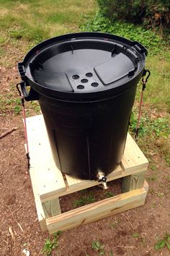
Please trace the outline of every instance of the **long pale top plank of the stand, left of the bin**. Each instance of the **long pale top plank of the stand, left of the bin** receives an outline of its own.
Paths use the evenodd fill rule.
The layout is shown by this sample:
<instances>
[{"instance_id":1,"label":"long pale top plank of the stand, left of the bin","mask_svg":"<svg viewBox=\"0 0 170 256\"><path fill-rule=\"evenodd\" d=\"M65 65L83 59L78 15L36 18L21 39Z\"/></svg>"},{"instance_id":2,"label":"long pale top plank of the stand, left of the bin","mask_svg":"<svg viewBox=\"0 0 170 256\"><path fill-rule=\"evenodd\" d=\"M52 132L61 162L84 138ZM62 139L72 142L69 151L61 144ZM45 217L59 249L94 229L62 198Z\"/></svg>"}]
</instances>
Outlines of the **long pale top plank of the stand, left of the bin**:
<instances>
[{"instance_id":1,"label":"long pale top plank of the stand, left of the bin","mask_svg":"<svg viewBox=\"0 0 170 256\"><path fill-rule=\"evenodd\" d=\"M55 166L42 115L27 118L30 163L35 168L37 190L46 197L66 190L61 171Z\"/></svg>"}]
</instances>

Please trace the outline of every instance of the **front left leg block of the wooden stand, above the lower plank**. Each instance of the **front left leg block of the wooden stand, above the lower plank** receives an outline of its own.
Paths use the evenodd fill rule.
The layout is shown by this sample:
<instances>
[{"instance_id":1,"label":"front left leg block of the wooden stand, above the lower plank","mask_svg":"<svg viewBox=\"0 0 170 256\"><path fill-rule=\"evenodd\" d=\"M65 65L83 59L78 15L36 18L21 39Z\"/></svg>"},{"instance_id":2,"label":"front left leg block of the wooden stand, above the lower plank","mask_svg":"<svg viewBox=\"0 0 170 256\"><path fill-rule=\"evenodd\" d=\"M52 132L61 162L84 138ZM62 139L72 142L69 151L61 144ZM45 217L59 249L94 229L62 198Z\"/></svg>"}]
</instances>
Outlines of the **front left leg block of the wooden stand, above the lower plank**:
<instances>
[{"instance_id":1,"label":"front left leg block of the wooden stand, above the lower plank","mask_svg":"<svg viewBox=\"0 0 170 256\"><path fill-rule=\"evenodd\" d=\"M45 218L61 214L61 206L58 197L50 201L42 202L42 208L45 213Z\"/></svg>"}]
</instances>

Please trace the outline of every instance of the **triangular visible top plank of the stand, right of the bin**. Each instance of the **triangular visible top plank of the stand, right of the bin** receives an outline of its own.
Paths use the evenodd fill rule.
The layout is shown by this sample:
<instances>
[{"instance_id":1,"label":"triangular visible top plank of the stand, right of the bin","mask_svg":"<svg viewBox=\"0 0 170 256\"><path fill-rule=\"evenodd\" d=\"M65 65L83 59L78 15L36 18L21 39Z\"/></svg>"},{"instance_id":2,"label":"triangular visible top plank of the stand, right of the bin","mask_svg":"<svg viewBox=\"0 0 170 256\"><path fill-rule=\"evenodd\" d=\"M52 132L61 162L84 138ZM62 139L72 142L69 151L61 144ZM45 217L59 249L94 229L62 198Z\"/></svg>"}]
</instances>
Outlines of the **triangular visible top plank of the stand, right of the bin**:
<instances>
[{"instance_id":1,"label":"triangular visible top plank of the stand, right of the bin","mask_svg":"<svg viewBox=\"0 0 170 256\"><path fill-rule=\"evenodd\" d=\"M129 133L127 135L125 152L120 165L125 172L138 172L140 168L148 168L148 160L146 156L140 150L135 140L133 140L133 137L131 137Z\"/></svg>"}]
</instances>

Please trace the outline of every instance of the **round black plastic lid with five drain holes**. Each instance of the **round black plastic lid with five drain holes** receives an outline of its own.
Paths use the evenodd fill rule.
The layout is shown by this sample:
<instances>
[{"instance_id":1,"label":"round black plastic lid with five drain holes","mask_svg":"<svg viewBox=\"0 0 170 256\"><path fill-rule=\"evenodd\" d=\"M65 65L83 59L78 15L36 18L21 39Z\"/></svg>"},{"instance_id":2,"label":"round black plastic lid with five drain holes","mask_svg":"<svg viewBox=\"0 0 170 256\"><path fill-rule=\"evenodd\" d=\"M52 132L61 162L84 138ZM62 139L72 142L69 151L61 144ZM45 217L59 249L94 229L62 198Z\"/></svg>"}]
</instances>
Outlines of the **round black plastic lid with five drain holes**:
<instances>
[{"instance_id":1,"label":"round black plastic lid with five drain holes","mask_svg":"<svg viewBox=\"0 0 170 256\"><path fill-rule=\"evenodd\" d=\"M39 93L88 98L106 90L125 90L141 76L146 54L140 43L116 35L74 33L40 43L19 65L22 79Z\"/></svg>"}]
</instances>

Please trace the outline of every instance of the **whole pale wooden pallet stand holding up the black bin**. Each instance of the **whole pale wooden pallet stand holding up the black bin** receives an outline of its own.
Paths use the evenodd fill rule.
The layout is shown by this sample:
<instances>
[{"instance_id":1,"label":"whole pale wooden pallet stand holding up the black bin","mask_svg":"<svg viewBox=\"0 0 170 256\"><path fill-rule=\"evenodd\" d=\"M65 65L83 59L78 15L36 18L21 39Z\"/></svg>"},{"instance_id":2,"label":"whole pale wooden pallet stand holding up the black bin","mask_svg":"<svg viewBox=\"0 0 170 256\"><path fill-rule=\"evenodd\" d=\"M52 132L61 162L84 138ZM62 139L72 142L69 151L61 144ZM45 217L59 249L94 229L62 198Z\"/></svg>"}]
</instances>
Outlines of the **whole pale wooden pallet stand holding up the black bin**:
<instances>
[{"instance_id":1,"label":"whole pale wooden pallet stand holding up the black bin","mask_svg":"<svg viewBox=\"0 0 170 256\"><path fill-rule=\"evenodd\" d=\"M107 176L107 182L122 178L122 194L61 213L58 197L99 184L62 174L55 166L42 115L27 118L30 177L37 217L49 233L81 226L100 218L143 205L148 192L145 174L148 160L128 134L122 162Z\"/></svg>"}]
</instances>

